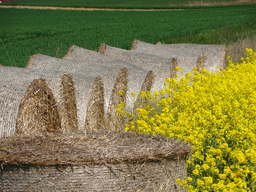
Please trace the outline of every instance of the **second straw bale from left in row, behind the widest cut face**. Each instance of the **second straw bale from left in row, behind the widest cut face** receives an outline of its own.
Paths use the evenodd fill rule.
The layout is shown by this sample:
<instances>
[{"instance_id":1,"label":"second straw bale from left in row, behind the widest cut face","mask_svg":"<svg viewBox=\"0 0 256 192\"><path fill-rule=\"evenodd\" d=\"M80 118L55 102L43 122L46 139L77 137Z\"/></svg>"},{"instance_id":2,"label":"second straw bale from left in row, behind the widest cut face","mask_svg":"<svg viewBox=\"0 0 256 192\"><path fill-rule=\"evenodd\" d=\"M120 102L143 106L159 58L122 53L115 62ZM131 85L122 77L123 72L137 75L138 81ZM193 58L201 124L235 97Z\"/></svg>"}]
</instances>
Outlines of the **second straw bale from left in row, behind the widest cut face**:
<instances>
[{"instance_id":1,"label":"second straw bale from left in row, behind the widest cut face","mask_svg":"<svg viewBox=\"0 0 256 192\"><path fill-rule=\"evenodd\" d=\"M77 130L76 98L72 76L61 71L28 69L4 66L0 70L2 81L26 82L43 78L57 102L64 131Z\"/></svg>"}]
</instances>

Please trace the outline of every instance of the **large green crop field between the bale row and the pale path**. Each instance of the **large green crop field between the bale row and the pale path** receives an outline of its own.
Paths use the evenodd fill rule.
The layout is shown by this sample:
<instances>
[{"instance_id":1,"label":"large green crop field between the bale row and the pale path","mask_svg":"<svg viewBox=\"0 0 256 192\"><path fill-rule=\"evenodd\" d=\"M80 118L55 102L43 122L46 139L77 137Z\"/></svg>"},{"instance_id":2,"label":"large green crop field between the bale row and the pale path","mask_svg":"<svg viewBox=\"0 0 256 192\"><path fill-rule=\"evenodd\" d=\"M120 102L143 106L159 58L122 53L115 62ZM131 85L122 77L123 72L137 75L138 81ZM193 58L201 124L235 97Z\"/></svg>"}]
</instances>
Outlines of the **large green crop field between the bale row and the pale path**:
<instances>
[{"instance_id":1,"label":"large green crop field between the bale row and the pale path","mask_svg":"<svg viewBox=\"0 0 256 192\"><path fill-rule=\"evenodd\" d=\"M62 58L72 45L129 49L148 43L226 44L255 36L256 5L172 11L0 8L0 64L24 67L33 54Z\"/></svg>"}]
</instances>

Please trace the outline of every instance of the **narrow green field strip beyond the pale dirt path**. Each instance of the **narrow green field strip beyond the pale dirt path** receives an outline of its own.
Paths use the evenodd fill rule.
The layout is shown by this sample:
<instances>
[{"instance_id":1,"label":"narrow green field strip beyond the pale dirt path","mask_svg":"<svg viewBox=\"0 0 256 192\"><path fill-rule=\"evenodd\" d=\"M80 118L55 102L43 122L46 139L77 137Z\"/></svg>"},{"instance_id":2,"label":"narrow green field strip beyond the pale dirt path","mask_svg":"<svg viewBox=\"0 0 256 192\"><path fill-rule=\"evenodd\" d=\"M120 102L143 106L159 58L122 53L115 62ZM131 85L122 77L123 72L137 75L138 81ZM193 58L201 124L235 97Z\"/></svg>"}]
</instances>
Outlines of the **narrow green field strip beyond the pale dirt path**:
<instances>
[{"instance_id":1,"label":"narrow green field strip beyond the pale dirt path","mask_svg":"<svg viewBox=\"0 0 256 192\"><path fill-rule=\"evenodd\" d=\"M18 0L2 4L61 6L61 7L93 7L93 8L171 8L175 6L220 6L236 4L252 4L255 0ZM186 8L186 7L184 7ZM196 7L194 7L196 8Z\"/></svg>"}]
</instances>

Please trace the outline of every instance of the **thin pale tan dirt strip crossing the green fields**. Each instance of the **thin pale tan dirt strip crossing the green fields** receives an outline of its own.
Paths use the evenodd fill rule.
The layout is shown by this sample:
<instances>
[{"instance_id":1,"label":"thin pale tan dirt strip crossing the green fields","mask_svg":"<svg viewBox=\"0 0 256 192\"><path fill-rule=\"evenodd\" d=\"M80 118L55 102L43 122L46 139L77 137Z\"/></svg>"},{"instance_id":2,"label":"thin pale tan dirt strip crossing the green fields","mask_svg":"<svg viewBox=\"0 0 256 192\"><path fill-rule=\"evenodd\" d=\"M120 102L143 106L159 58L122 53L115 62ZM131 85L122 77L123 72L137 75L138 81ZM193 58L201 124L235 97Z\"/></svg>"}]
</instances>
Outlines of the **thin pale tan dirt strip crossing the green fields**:
<instances>
[{"instance_id":1,"label":"thin pale tan dirt strip crossing the green fields","mask_svg":"<svg viewBox=\"0 0 256 192\"><path fill-rule=\"evenodd\" d=\"M0 5L0 8L17 8L17 9L63 9L63 10L82 10L82 11L173 11L173 10L184 10L184 9L99 9L99 8L74 8L74 7L47 7L47 6L11 6L11 5Z\"/></svg>"}]
</instances>

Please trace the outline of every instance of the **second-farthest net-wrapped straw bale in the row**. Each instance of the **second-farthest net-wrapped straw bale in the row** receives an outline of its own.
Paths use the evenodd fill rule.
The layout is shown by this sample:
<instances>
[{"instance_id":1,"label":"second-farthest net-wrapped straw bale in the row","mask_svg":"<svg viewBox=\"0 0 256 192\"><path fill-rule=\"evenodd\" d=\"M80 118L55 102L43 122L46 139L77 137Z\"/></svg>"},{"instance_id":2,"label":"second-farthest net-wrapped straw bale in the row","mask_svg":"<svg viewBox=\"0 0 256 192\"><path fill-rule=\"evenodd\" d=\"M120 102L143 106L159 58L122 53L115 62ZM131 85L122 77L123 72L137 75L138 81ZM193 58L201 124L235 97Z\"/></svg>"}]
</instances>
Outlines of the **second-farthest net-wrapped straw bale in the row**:
<instances>
[{"instance_id":1,"label":"second-farthest net-wrapped straw bale in the row","mask_svg":"<svg viewBox=\"0 0 256 192\"><path fill-rule=\"evenodd\" d=\"M183 51L180 49L145 43L139 40L133 41L131 50L176 59L178 66L184 69L183 72L179 74L183 77L186 76L187 72L191 72L193 74L194 67L196 67L200 55L196 53L191 53L189 51Z\"/></svg>"}]
</instances>

